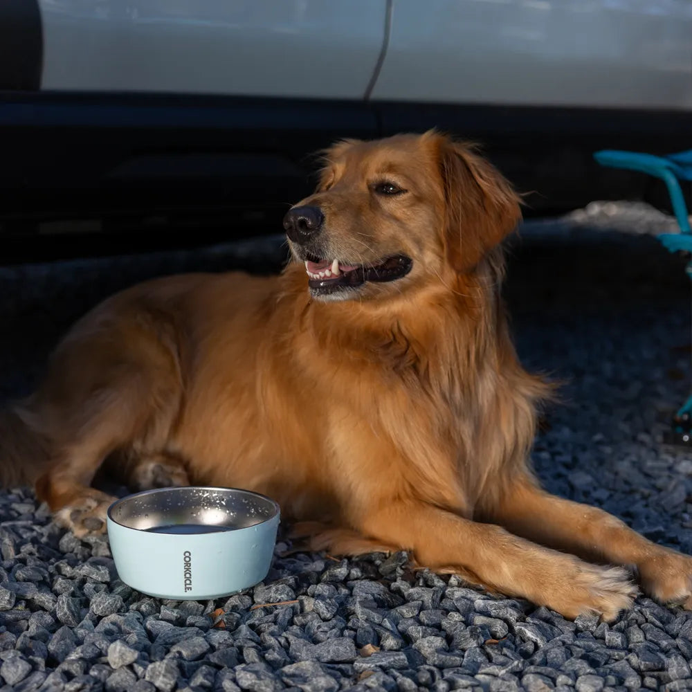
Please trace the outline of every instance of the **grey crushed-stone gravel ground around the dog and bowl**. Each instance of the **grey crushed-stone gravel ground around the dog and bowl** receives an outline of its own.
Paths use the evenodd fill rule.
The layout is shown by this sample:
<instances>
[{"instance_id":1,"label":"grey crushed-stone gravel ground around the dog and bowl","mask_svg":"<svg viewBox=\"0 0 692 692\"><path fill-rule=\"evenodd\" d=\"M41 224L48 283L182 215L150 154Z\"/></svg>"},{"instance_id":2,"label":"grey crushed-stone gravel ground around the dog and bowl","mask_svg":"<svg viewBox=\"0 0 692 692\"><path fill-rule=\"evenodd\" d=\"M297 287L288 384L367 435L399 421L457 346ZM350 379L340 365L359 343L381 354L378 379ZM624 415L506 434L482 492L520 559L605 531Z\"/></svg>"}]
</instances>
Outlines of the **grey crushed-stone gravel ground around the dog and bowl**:
<instances>
[{"instance_id":1,"label":"grey crushed-stone gravel ground around the dog and bowl","mask_svg":"<svg viewBox=\"0 0 692 692\"><path fill-rule=\"evenodd\" d=\"M527 224L507 299L522 360L565 381L534 450L545 485L692 552L692 455L660 442L691 377L684 262L648 235L669 223L606 204ZM0 398L26 392L60 332L113 290L183 269L275 271L284 256L268 239L0 268ZM610 625L571 622L412 572L405 554L338 561L280 540L253 590L159 601L30 491L1 493L0 520L3 690L692 689L692 612L644 597Z\"/></svg>"}]
</instances>

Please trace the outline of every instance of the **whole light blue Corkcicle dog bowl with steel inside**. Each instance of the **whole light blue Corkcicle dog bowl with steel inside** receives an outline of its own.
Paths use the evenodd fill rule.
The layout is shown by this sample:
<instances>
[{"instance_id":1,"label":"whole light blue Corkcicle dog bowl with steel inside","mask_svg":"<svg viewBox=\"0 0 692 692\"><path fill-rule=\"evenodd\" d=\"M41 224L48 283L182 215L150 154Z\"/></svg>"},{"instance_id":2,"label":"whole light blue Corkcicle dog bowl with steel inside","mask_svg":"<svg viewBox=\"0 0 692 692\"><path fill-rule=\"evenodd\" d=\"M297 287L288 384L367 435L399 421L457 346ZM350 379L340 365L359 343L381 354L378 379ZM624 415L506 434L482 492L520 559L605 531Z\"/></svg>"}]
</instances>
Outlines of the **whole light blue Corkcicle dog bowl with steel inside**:
<instances>
[{"instance_id":1,"label":"whole light blue Corkcicle dog bowl with steel inside","mask_svg":"<svg viewBox=\"0 0 692 692\"><path fill-rule=\"evenodd\" d=\"M228 596L264 579L279 505L232 488L162 488L127 495L108 509L118 576L162 599Z\"/></svg>"}]
</instances>

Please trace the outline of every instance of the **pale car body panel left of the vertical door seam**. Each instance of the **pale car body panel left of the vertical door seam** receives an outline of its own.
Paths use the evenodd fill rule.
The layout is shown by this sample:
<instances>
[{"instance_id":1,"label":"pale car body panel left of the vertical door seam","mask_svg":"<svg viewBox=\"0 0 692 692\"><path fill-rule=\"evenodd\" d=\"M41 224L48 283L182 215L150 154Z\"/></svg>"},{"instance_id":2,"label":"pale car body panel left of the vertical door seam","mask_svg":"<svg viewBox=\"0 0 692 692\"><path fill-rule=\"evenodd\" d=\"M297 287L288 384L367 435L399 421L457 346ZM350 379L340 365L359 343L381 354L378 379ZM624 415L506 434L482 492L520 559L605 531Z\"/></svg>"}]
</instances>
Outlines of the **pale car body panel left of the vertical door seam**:
<instances>
[{"instance_id":1,"label":"pale car body panel left of the vertical door seam","mask_svg":"<svg viewBox=\"0 0 692 692\"><path fill-rule=\"evenodd\" d=\"M42 89L363 98L385 0L39 0Z\"/></svg>"}]
</instances>

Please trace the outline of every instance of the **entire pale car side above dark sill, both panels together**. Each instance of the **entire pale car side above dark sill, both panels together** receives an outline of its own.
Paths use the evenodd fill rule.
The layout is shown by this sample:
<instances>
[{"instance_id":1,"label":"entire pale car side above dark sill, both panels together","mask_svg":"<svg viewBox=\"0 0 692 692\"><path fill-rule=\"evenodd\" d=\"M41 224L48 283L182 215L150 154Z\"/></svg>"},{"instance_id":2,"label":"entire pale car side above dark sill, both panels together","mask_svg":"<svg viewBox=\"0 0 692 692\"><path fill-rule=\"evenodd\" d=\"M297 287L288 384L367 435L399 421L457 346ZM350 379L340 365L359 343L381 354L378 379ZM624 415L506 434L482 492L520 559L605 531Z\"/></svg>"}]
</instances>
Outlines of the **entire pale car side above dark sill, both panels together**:
<instances>
[{"instance_id":1,"label":"entire pale car side above dark sill, both panels together","mask_svg":"<svg viewBox=\"0 0 692 692\"><path fill-rule=\"evenodd\" d=\"M391 0L373 100L692 109L691 0ZM387 0L39 0L42 89L363 100Z\"/></svg>"}]
</instances>

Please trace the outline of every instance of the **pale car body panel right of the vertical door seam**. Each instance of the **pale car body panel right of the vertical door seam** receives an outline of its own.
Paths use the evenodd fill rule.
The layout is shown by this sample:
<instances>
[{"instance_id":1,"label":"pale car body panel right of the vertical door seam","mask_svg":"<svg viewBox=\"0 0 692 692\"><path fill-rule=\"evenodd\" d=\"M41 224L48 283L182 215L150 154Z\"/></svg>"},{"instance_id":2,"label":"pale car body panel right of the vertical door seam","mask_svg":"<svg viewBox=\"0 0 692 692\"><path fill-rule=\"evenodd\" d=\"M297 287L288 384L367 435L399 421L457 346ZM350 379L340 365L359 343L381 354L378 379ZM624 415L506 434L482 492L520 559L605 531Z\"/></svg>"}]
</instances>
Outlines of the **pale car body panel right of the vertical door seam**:
<instances>
[{"instance_id":1,"label":"pale car body panel right of the vertical door seam","mask_svg":"<svg viewBox=\"0 0 692 692\"><path fill-rule=\"evenodd\" d=\"M394 0L372 98L692 108L689 0Z\"/></svg>"}]
</instances>

